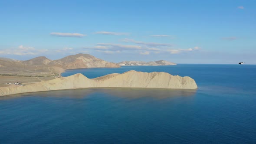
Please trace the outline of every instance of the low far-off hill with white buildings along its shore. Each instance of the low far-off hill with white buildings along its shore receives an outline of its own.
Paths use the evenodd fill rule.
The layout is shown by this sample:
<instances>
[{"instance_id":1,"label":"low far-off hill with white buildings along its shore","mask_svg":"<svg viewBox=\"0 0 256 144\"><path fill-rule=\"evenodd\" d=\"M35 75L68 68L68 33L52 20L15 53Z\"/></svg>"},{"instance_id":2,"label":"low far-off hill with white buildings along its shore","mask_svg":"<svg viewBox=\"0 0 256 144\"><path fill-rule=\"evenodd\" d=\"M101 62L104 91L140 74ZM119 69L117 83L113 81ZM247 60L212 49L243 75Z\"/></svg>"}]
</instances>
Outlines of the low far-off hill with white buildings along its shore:
<instances>
[{"instance_id":1,"label":"low far-off hill with white buildings along its shore","mask_svg":"<svg viewBox=\"0 0 256 144\"><path fill-rule=\"evenodd\" d=\"M118 65L177 65L173 62L167 62L164 60L154 61L154 62L143 62L143 61L124 61L118 62Z\"/></svg>"}]
</instances>

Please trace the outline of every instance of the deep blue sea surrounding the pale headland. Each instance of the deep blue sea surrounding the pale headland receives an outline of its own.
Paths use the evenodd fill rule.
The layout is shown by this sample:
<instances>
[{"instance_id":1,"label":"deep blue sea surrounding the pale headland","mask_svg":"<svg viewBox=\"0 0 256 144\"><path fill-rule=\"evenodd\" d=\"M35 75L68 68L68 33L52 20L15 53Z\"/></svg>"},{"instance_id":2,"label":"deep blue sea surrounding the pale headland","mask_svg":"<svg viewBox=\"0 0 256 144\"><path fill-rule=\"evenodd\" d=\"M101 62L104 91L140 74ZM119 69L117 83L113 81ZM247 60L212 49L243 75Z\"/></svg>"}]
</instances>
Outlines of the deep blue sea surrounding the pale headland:
<instances>
[{"instance_id":1,"label":"deep blue sea surrounding the pale headland","mask_svg":"<svg viewBox=\"0 0 256 144\"><path fill-rule=\"evenodd\" d=\"M84 88L0 97L0 144L256 143L256 65L71 69L190 76L196 90Z\"/></svg>"}]
</instances>

